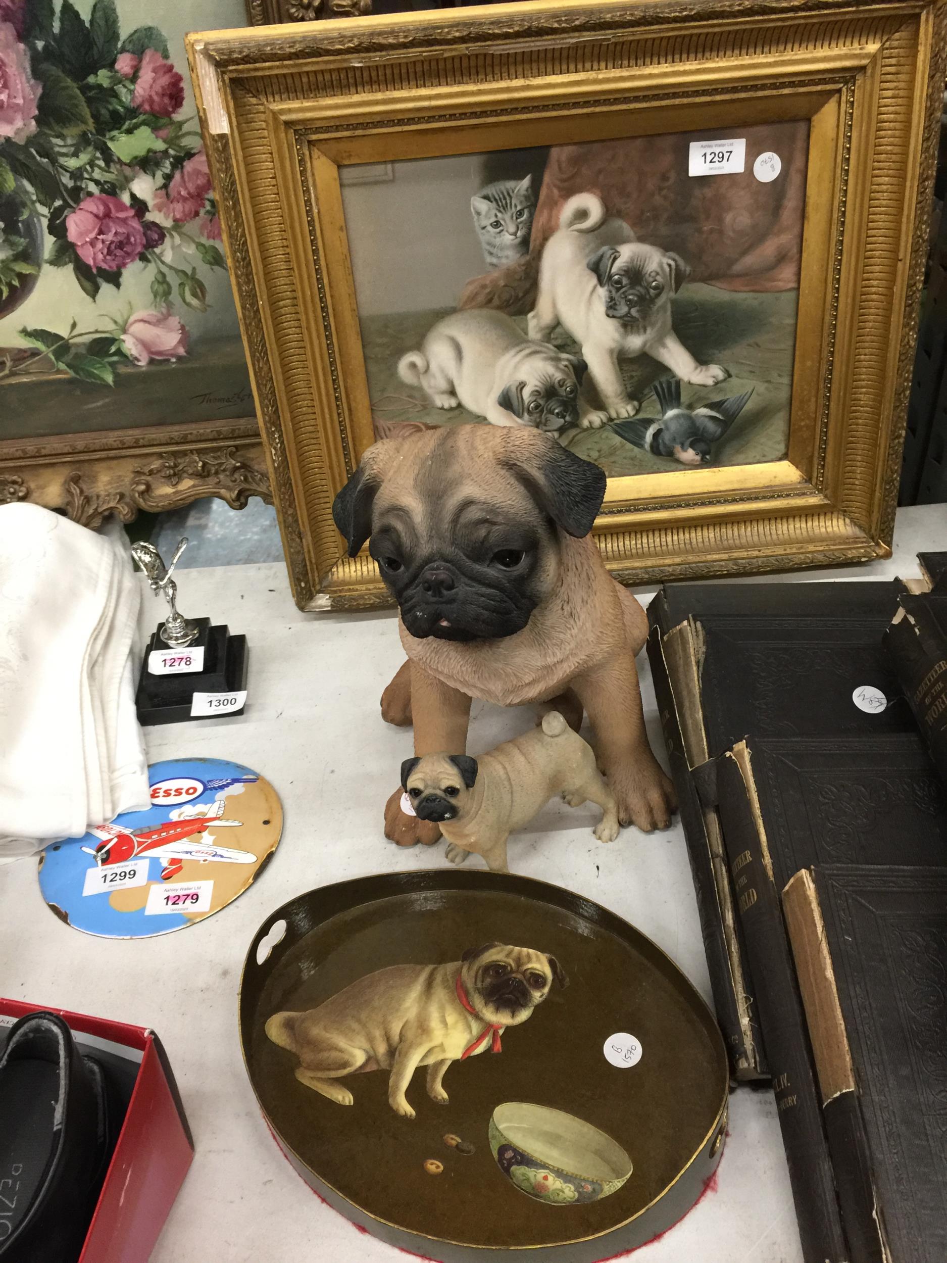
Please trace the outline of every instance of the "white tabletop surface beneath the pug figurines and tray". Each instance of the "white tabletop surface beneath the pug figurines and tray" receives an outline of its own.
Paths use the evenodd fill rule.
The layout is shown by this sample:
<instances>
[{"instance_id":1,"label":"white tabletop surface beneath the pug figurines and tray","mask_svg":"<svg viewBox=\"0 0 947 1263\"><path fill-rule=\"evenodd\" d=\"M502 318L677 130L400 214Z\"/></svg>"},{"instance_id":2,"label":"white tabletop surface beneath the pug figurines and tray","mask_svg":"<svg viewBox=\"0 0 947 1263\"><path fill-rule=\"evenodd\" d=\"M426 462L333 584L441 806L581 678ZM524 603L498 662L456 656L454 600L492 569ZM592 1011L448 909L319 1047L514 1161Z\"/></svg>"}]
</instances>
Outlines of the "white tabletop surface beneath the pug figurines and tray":
<instances>
[{"instance_id":1,"label":"white tabletop surface beneath the pug figurines and tray","mask_svg":"<svg viewBox=\"0 0 947 1263\"><path fill-rule=\"evenodd\" d=\"M915 553L947 548L947 505L898 513L894 554L870 566L780 576L890 578L918 573ZM769 581L773 576L744 582ZM638 590L643 601L654 587ZM394 1263L389 1245L357 1233L295 1175L270 1137L244 1072L237 985L264 918L292 897L345 878L447 866L443 844L399 850L381 812L412 753L409 730L381 721L379 697L402 662L394 615L301 614L280 565L188 570L188 615L211 615L250 644L246 714L146 730L154 762L235 759L282 796L283 841L246 894L218 914L159 938L102 940L71 930L45 907L35 860L0 868L0 994L153 1027L164 1042L197 1153L153 1263ZM141 628L157 624L146 592ZM660 725L648 659L639 659L648 729ZM528 711L474 703L470 751L532 724ZM551 805L510 842L515 873L568 887L652 937L710 1000L684 837L625 830L606 846L595 808ZM471 858L468 864L480 861ZM730 1138L717 1186L635 1263L802 1263L779 1124L769 1091L731 1095ZM140 1263L129 1259L128 1263Z\"/></svg>"}]
</instances>

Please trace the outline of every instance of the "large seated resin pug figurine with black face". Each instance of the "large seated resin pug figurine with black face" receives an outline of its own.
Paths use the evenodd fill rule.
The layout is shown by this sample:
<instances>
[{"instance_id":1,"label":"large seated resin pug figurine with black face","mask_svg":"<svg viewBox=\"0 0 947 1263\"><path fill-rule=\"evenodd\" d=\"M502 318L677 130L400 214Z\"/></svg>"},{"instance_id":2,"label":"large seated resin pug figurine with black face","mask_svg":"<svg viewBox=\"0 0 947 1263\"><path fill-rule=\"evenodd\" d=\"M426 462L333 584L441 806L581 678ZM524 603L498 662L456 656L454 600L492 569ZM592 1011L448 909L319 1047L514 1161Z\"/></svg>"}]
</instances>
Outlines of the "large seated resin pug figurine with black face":
<instances>
[{"instance_id":1,"label":"large seated resin pug figurine with black face","mask_svg":"<svg viewBox=\"0 0 947 1263\"><path fill-rule=\"evenodd\" d=\"M400 606L408 662L381 697L391 724L414 724L414 753L465 753L472 697L582 711L619 820L665 829L670 782L648 745L635 654L648 619L605 570L590 534L605 474L532 428L444 426L370 447L336 496L354 557L370 552ZM385 808L400 846L439 827Z\"/></svg>"}]
</instances>

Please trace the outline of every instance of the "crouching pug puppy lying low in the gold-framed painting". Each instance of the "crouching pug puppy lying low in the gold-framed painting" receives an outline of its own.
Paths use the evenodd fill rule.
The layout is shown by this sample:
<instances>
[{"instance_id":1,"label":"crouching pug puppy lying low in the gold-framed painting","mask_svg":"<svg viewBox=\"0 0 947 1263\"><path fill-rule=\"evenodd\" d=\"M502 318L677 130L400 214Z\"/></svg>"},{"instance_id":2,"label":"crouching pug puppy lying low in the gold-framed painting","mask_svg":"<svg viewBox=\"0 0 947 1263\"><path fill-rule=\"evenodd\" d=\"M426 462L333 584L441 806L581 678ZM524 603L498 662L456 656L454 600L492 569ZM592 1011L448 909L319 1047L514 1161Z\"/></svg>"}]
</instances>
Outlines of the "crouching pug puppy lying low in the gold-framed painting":
<instances>
[{"instance_id":1,"label":"crouching pug puppy lying low in the gold-framed painting","mask_svg":"<svg viewBox=\"0 0 947 1263\"><path fill-rule=\"evenodd\" d=\"M548 433L609 419L583 397L585 371L585 360L530 341L496 311L446 316L419 351L398 361L402 381L420 386L437 408L460 403L491 426L534 426Z\"/></svg>"}]
</instances>

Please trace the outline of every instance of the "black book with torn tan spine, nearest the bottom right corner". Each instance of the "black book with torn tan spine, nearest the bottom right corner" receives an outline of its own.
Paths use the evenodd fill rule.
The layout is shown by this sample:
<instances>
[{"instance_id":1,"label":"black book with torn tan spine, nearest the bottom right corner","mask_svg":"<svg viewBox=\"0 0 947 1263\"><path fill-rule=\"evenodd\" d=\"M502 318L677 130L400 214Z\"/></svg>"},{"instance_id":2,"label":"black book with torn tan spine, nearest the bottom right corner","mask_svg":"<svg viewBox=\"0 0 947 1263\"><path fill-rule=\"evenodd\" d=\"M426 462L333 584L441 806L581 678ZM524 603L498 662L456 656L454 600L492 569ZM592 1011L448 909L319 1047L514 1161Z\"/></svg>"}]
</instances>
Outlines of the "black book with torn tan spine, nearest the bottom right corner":
<instances>
[{"instance_id":1,"label":"black book with torn tan spine, nearest the bottom right corner","mask_svg":"<svg viewBox=\"0 0 947 1263\"><path fill-rule=\"evenodd\" d=\"M947 870L814 868L783 906L826 1123L870 1200L856 1240L874 1234L885 1263L943 1263Z\"/></svg>"}]
</instances>

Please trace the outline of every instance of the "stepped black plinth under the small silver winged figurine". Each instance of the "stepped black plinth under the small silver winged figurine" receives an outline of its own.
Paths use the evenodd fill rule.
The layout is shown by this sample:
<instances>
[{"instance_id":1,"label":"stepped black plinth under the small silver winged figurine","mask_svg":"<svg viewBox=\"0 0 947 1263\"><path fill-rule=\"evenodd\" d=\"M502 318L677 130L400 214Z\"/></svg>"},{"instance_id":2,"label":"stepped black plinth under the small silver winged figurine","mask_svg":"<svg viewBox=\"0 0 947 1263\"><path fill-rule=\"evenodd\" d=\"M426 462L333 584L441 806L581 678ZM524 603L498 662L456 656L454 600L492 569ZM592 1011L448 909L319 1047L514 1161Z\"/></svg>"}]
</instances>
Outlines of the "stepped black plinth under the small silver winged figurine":
<instances>
[{"instance_id":1,"label":"stepped black plinth under the small silver winged figurine","mask_svg":"<svg viewBox=\"0 0 947 1263\"><path fill-rule=\"evenodd\" d=\"M169 649L155 632L148 642L141 674L138 678L135 709L138 721L148 724L181 724L186 719L220 719L213 715L192 715L194 693L234 693L246 688L246 637L231 635L225 625L211 626L210 619L197 619L201 633L188 649L203 647L203 671L174 676L153 676L148 658L153 649L169 654L187 653L188 649ZM229 711L242 715L245 707Z\"/></svg>"}]
</instances>

